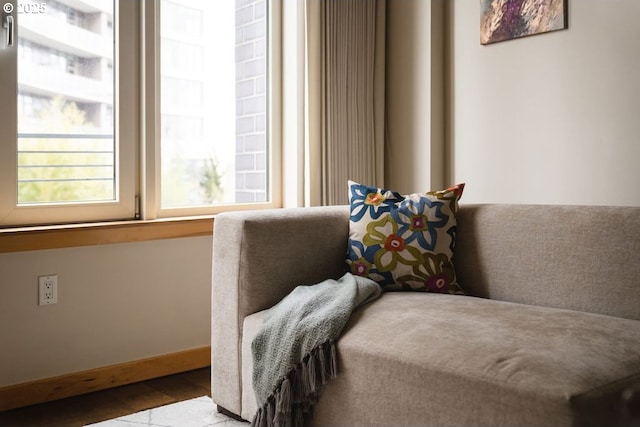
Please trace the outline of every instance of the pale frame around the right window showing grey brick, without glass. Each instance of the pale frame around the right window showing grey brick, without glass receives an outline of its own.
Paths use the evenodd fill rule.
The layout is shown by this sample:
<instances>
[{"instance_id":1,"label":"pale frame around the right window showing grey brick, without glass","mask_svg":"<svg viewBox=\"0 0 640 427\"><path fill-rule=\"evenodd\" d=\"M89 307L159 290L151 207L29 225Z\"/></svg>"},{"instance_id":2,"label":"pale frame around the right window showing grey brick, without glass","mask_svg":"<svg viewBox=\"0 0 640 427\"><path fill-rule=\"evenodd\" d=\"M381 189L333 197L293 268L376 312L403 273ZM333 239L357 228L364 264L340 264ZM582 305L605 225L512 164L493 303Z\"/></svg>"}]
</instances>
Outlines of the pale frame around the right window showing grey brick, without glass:
<instances>
[{"instance_id":1,"label":"pale frame around the right window showing grey brick, without glass","mask_svg":"<svg viewBox=\"0 0 640 427\"><path fill-rule=\"evenodd\" d=\"M225 0L226 1L226 0ZM211 215L223 211L266 209L282 206L281 164L281 0L268 0L268 124L267 124L267 202L214 204L162 208L161 132L160 132L160 2L143 0L142 85L144 126L142 129L142 217L156 219L179 216Z\"/></svg>"}]
</instances>

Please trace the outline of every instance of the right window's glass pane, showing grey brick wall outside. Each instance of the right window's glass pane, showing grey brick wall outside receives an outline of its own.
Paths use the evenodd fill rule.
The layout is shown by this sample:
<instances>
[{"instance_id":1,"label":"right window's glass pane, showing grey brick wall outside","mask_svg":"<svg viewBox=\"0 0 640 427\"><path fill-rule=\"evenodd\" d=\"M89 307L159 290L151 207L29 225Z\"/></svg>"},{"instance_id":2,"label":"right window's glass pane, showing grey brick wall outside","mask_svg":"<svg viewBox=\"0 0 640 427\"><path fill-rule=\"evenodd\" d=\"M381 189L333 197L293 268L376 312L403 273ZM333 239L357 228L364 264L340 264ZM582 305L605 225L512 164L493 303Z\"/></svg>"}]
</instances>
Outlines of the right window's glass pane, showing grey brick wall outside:
<instances>
[{"instance_id":1,"label":"right window's glass pane, showing grey brick wall outside","mask_svg":"<svg viewBox=\"0 0 640 427\"><path fill-rule=\"evenodd\" d=\"M268 201L267 0L162 0L162 207Z\"/></svg>"}]
</instances>

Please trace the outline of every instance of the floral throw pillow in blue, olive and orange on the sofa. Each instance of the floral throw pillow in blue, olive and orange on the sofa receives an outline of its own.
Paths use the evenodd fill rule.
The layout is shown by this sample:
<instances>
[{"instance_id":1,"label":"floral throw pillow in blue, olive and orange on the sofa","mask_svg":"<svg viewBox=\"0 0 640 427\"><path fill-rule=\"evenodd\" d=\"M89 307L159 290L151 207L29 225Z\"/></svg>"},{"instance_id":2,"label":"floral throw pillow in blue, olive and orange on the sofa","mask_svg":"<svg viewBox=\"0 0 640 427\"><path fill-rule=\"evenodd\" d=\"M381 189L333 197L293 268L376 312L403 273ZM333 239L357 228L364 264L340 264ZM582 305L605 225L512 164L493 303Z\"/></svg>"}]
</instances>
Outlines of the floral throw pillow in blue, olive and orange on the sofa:
<instances>
[{"instance_id":1,"label":"floral throw pillow in blue, olive and orange on the sofa","mask_svg":"<svg viewBox=\"0 0 640 427\"><path fill-rule=\"evenodd\" d=\"M349 181L349 271L385 290L464 295L451 261L463 189L401 195Z\"/></svg>"}]
</instances>

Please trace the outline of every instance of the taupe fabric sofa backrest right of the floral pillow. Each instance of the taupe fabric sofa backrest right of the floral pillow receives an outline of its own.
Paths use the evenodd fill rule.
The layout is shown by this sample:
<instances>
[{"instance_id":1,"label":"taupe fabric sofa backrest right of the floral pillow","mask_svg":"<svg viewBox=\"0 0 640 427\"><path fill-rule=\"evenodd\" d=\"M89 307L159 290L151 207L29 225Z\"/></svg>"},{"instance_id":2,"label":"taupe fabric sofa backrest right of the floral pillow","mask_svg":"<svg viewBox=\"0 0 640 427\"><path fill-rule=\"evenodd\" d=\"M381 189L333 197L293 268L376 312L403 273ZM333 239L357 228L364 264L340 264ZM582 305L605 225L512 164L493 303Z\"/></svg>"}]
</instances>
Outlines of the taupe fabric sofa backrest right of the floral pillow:
<instances>
[{"instance_id":1,"label":"taupe fabric sofa backrest right of the floral pillow","mask_svg":"<svg viewBox=\"0 0 640 427\"><path fill-rule=\"evenodd\" d=\"M475 296L640 320L640 207L461 204L454 265Z\"/></svg>"}]
</instances>

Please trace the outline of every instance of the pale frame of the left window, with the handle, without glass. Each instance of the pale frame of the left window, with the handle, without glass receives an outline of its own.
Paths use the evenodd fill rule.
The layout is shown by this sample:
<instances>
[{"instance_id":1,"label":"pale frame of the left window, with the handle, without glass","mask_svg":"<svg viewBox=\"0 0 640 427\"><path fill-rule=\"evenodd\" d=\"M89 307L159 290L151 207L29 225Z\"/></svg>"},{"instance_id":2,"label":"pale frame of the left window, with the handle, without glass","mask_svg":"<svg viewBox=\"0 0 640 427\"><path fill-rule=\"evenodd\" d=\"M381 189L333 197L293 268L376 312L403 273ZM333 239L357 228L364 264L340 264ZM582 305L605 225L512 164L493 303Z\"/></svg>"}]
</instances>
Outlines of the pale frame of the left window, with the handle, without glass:
<instances>
[{"instance_id":1,"label":"pale frame of the left window, with the handle, without glass","mask_svg":"<svg viewBox=\"0 0 640 427\"><path fill-rule=\"evenodd\" d=\"M20 29L17 0L13 5L14 35ZM45 12L46 13L46 12ZM47 225L71 222L97 222L135 217L136 167L139 125L139 52L136 43L122 43L125 37L137 39L136 2L116 2L115 60L120 71L115 80L115 101L119 115L114 130L116 166L115 200L99 202L34 203L18 205L17 200L17 37L13 47L5 46L6 29L0 26L0 227ZM3 15L4 18L4 15Z\"/></svg>"}]
</instances>

